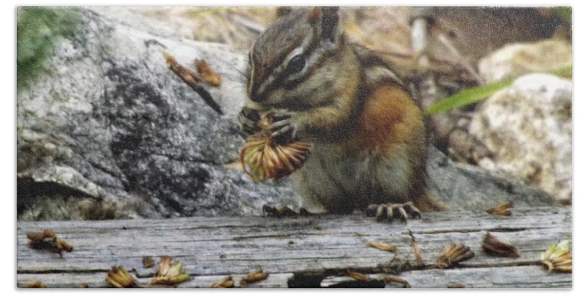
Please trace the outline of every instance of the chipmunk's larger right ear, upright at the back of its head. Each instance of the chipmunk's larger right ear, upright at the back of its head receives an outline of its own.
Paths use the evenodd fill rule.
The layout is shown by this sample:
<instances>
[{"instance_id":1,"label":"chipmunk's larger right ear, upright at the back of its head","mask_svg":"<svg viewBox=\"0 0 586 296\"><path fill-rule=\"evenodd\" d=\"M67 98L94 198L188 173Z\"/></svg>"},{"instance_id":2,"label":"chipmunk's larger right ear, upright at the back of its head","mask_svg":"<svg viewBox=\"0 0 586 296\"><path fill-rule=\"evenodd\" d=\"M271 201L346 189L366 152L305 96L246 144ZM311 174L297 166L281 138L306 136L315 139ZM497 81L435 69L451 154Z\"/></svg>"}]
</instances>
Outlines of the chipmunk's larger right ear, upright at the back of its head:
<instances>
[{"instance_id":1,"label":"chipmunk's larger right ear, upright at the back of its head","mask_svg":"<svg viewBox=\"0 0 586 296\"><path fill-rule=\"evenodd\" d=\"M340 37L338 7L314 7L309 11L309 24L321 34L323 43L333 46Z\"/></svg>"}]
</instances>

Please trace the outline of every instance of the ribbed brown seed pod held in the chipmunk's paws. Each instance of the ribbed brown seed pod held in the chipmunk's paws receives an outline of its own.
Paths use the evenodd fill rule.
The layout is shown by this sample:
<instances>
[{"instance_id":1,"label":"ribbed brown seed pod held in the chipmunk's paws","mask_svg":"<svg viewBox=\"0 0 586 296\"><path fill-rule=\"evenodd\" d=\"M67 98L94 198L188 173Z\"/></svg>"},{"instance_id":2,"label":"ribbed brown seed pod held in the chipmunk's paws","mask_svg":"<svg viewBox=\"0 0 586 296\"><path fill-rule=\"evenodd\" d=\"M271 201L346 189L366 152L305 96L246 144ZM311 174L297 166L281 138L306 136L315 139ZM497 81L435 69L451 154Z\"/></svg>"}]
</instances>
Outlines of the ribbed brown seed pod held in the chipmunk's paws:
<instances>
[{"instance_id":1,"label":"ribbed brown seed pod held in the chipmunk's paws","mask_svg":"<svg viewBox=\"0 0 586 296\"><path fill-rule=\"evenodd\" d=\"M271 123L271 114L263 116L258 122L261 131L248 137L240 151L244 172L257 182L291 175L301 168L311 152L311 145L302 141L277 144L267 128Z\"/></svg>"}]
</instances>

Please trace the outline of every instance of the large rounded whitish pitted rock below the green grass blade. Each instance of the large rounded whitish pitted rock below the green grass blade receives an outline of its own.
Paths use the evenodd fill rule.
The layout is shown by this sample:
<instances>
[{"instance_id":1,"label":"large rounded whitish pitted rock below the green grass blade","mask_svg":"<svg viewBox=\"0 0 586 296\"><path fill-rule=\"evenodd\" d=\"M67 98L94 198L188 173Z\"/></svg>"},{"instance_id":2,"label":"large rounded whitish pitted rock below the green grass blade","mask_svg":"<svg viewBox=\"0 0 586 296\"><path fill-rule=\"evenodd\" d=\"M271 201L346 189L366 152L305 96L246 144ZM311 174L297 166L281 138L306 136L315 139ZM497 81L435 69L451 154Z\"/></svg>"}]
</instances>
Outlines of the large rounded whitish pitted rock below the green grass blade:
<instances>
[{"instance_id":1,"label":"large rounded whitish pitted rock below the green grass blade","mask_svg":"<svg viewBox=\"0 0 586 296\"><path fill-rule=\"evenodd\" d=\"M479 166L512 173L559 200L571 200L571 81L545 74L516 79L482 104L470 132L492 154Z\"/></svg>"}]
</instances>

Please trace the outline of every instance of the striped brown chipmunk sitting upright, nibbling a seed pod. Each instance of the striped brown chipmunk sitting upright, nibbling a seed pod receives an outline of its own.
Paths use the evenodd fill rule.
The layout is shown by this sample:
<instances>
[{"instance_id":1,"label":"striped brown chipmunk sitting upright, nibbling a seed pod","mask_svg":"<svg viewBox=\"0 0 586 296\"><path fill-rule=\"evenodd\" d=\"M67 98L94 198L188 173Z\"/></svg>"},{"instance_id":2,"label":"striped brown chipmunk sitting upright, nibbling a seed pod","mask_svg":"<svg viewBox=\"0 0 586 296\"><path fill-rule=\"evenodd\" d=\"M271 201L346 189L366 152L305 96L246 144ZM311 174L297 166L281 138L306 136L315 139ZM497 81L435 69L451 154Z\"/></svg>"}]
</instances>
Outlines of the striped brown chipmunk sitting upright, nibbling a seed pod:
<instances>
[{"instance_id":1,"label":"striped brown chipmunk sitting upright, nibbling a seed pod","mask_svg":"<svg viewBox=\"0 0 586 296\"><path fill-rule=\"evenodd\" d=\"M421 110L390 65L340 31L338 8L281 11L250 50L241 130L255 133L270 112L275 141L312 143L291 175L309 213L391 221L441 210L425 189Z\"/></svg>"}]
</instances>

